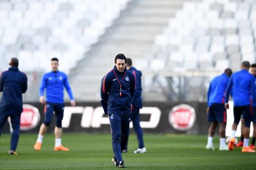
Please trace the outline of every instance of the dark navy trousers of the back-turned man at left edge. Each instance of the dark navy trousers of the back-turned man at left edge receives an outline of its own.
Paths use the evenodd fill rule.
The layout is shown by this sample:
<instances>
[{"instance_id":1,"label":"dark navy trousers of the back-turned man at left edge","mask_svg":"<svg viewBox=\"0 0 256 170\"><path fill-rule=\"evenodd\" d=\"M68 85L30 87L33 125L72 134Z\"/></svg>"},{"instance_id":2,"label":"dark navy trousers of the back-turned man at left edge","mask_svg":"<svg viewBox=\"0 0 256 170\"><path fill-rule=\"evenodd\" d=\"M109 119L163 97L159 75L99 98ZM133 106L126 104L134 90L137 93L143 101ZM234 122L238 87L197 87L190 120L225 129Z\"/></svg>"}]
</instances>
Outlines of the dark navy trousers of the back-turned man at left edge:
<instances>
[{"instance_id":1,"label":"dark navy trousers of the back-turned man at left edge","mask_svg":"<svg viewBox=\"0 0 256 170\"><path fill-rule=\"evenodd\" d=\"M12 129L13 129L10 150L16 150L19 136L20 136L20 113L17 115L7 115L7 114L0 113L0 136L1 136L3 125L9 116L11 118Z\"/></svg>"}]
</instances>

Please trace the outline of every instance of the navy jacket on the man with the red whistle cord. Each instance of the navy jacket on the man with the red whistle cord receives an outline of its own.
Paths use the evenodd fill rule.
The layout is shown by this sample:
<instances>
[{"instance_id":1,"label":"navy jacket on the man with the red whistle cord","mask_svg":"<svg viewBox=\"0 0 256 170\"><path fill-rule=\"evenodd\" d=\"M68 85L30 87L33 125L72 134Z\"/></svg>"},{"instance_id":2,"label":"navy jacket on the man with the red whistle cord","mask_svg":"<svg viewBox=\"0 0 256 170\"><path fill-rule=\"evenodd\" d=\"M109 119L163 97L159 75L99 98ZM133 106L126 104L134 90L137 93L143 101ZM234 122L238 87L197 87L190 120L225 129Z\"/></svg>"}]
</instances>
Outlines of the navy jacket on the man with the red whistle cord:
<instances>
[{"instance_id":1,"label":"navy jacket on the man with the red whistle cord","mask_svg":"<svg viewBox=\"0 0 256 170\"><path fill-rule=\"evenodd\" d=\"M120 96L120 85L117 79L120 83L122 82L122 96ZM101 98L104 102L108 102L108 114L131 114L131 99L134 96L134 88L133 73L126 68L121 73L114 66L113 70L102 78L101 84Z\"/></svg>"}]
</instances>

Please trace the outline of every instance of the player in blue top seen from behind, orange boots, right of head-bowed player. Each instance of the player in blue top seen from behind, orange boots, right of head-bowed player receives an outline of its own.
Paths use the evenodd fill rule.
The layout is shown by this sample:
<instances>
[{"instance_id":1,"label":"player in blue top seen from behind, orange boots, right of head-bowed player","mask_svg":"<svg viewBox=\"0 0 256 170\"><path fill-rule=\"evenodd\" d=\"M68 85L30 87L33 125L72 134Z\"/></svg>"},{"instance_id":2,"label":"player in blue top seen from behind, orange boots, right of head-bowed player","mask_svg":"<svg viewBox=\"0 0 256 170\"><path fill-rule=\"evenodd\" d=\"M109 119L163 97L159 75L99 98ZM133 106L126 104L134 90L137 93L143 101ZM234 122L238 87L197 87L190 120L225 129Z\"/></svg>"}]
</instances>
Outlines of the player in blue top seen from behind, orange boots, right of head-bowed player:
<instances>
[{"instance_id":1,"label":"player in blue top seen from behind, orange boots, right of head-bowed player","mask_svg":"<svg viewBox=\"0 0 256 170\"><path fill-rule=\"evenodd\" d=\"M241 115L244 118L244 146L242 152L255 152L249 147L250 122L252 121L252 107L250 105L250 94L256 99L255 79L249 71L250 63L242 62L241 71L234 73L227 84L225 96L225 108L229 109L228 98L231 88L233 88L234 101L234 123L232 125L231 139L228 144L229 150L234 149L235 135L237 125L239 124Z\"/></svg>"}]
</instances>

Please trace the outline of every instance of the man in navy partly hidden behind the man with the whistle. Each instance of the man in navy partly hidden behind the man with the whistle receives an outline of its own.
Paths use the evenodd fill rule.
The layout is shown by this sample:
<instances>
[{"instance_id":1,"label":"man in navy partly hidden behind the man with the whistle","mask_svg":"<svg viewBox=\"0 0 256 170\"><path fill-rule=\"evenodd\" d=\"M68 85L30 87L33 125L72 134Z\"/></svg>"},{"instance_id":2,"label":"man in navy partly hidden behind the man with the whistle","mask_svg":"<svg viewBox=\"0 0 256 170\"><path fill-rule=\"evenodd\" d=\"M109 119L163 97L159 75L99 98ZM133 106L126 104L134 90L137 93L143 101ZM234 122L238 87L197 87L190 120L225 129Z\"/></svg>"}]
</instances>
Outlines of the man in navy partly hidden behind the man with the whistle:
<instances>
[{"instance_id":1,"label":"man in navy partly hidden behind the man with the whistle","mask_svg":"<svg viewBox=\"0 0 256 170\"><path fill-rule=\"evenodd\" d=\"M135 130L135 133L137 134L137 140L139 143L139 147L134 150L134 153L145 153L146 147L144 146L143 142L143 131L140 127L140 109L142 108L142 87L141 87L141 71L138 71L136 68L132 67L132 60L130 58L127 58L126 62L126 68L131 71L134 74L135 77L135 92L134 97L131 99L131 121L133 124L133 128ZM128 145L128 139L125 143L125 148L122 151L127 152L127 145Z\"/></svg>"}]
</instances>

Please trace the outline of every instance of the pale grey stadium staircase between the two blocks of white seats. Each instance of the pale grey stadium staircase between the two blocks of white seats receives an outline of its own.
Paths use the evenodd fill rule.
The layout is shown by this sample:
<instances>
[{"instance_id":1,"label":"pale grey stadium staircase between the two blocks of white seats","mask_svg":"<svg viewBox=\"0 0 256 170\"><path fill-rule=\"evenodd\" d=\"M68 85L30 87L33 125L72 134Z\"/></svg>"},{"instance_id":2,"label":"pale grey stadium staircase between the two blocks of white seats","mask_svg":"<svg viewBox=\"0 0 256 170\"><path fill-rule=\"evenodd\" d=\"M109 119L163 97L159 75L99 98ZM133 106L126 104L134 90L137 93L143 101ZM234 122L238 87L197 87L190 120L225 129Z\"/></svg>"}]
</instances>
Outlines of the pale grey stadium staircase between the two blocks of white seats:
<instances>
[{"instance_id":1,"label":"pale grey stadium staircase between the two blocks of white seats","mask_svg":"<svg viewBox=\"0 0 256 170\"><path fill-rule=\"evenodd\" d=\"M116 54L123 53L137 66L154 44L157 34L182 8L183 0L132 0L114 20L99 42L92 46L76 68L70 71L70 84L77 101L99 101L102 77L113 68ZM68 99L68 96L65 95Z\"/></svg>"}]
</instances>

